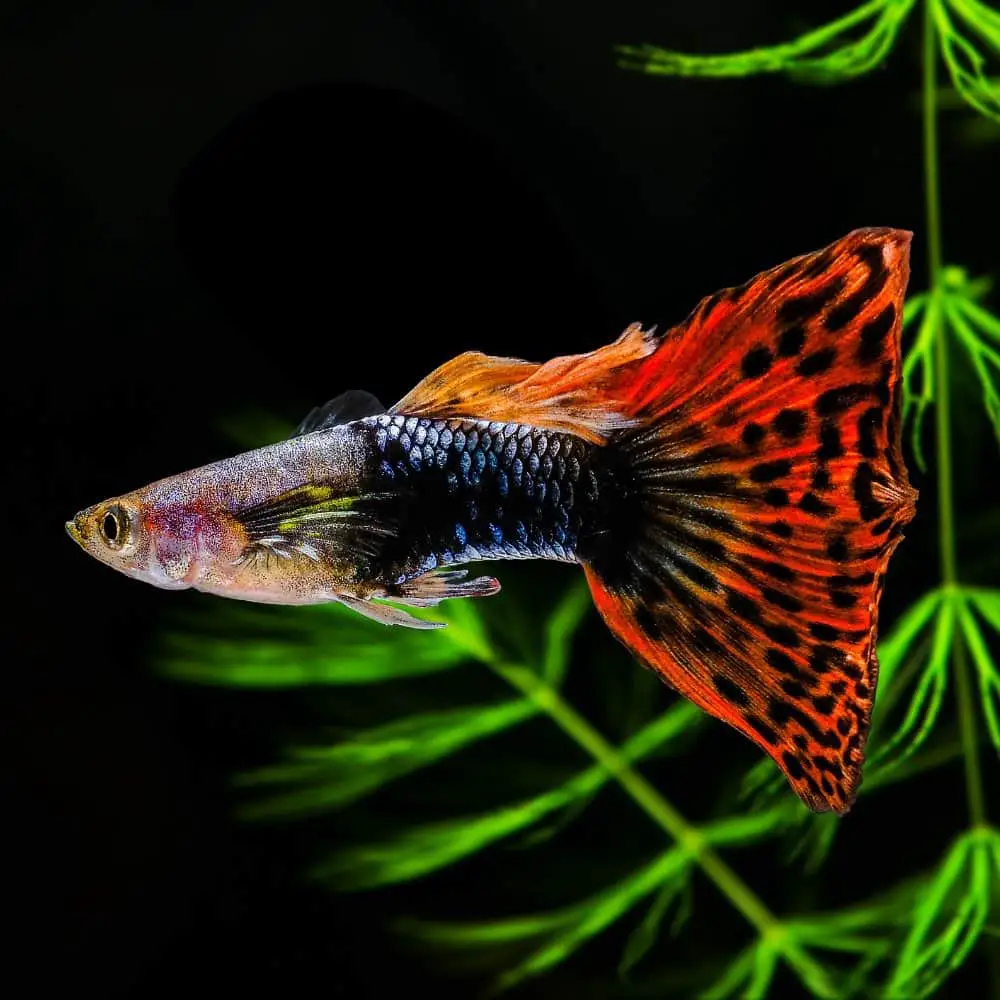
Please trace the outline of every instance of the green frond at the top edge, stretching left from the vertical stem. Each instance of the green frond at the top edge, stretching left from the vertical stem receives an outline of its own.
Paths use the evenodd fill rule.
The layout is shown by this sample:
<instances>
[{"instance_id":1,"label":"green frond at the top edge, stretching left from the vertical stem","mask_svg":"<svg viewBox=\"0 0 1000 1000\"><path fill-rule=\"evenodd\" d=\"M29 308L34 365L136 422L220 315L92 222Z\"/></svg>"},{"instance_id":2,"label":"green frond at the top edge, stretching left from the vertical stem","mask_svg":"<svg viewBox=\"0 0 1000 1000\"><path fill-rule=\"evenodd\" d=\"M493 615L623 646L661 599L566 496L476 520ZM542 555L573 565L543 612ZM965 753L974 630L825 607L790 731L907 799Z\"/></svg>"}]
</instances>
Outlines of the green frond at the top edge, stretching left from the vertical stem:
<instances>
[{"instance_id":1,"label":"green frond at the top edge, stretching left from the vertical stem","mask_svg":"<svg viewBox=\"0 0 1000 1000\"><path fill-rule=\"evenodd\" d=\"M843 17L791 42L728 55L692 56L655 45L620 45L624 69L671 76L741 77L793 73L836 82L867 73L892 49L916 0L869 0ZM869 23L873 22L873 23ZM857 30L868 24L860 37Z\"/></svg>"}]
</instances>

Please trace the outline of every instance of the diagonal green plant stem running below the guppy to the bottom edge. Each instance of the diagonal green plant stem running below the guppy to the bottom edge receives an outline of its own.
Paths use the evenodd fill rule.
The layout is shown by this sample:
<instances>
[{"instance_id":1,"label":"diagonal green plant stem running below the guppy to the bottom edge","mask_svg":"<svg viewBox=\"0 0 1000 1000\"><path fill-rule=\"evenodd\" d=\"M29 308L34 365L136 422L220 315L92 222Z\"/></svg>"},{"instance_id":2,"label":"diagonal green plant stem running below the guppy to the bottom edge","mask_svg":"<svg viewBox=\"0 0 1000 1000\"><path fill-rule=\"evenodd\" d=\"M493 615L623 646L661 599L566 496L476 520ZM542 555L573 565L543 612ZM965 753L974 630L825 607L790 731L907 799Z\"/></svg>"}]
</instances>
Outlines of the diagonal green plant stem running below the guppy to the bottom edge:
<instances>
[{"instance_id":1,"label":"diagonal green plant stem running below the guppy to the bottom edge","mask_svg":"<svg viewBox=\"0 0 1000 1000\"><path fill-rule=\"evenodd\" d=\"M829 991L818 995L836 995L823 968L797 942L783 933L781 921L705 842L698 828L688 823L555 688L526 667L495 662L490 667L515 689L531 698L567 736L612 775L636 805L691 856L760 937L768 941L796 972L811 983L822 984L821 988Z\"/></svg>"}]
</instances>

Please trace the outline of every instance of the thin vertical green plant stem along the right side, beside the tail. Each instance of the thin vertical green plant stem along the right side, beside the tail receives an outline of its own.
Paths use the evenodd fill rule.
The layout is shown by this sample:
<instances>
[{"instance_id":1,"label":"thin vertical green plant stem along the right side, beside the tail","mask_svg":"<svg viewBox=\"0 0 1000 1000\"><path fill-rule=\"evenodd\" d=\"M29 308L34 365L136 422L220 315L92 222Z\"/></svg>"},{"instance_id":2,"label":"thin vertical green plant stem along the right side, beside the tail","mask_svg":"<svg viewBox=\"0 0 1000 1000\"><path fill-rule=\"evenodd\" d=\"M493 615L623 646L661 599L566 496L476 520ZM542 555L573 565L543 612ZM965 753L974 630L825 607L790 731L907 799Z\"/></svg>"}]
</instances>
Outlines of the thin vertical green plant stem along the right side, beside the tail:
<instances>
[{"instance_id":1,"label":"thin vertical green plant stem along the right side, beside the tail","mask_svg":"<svg viewBox=\"0 0 1000 1000\"><path fill-rule=\"evenodd\" d=\"M943 280L941 252L941 191L938 176L937 137L937 29L935 13L941 0L924 3L924 52L923 52L923 105L924 105L924 173L927 194L927 255L930 269L930 289L933 299L946 294ZM951 600L961 600L958 590L958 556L955 546L955 505L952 490L951 464L951 404L949 385L948 327L939 310L939 327L935 339L935 367L937 368L937 469L939 511L939 547L941 574ZM965 789L969 803L969 817L973 825L986 822L986 799L979 763L979 737L976 732L976 708L972 696L972 678L965 647L960 637L953 647L955 667L955 693L958 699L959 726L965 757Z\"/></svg>"}]
</instances>

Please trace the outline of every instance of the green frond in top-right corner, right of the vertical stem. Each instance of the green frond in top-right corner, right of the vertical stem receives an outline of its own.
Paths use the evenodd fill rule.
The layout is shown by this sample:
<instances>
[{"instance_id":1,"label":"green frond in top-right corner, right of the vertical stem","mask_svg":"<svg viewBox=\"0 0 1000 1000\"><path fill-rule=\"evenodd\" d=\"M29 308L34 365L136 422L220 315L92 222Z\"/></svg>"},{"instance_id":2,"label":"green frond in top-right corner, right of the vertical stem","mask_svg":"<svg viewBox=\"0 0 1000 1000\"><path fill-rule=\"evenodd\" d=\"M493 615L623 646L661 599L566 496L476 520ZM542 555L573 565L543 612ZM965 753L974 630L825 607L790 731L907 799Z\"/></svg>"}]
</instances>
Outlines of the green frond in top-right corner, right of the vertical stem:
<instances>
[{"instance_id":1,"label":"green frond in top-right corner, right of the vertical stem","mask_svg":"<svg viewBox=\"0 0 1000 1000\"><path fill-rule=\"evenodd\" d=\"M1000 14L980 0L925 0L933 5L941 54L955 89L981 115L1000 121L1000 88L987 74L987 57L948 16L953 11L994 56L1000 56Z\"/></svg>"}]
</instances>

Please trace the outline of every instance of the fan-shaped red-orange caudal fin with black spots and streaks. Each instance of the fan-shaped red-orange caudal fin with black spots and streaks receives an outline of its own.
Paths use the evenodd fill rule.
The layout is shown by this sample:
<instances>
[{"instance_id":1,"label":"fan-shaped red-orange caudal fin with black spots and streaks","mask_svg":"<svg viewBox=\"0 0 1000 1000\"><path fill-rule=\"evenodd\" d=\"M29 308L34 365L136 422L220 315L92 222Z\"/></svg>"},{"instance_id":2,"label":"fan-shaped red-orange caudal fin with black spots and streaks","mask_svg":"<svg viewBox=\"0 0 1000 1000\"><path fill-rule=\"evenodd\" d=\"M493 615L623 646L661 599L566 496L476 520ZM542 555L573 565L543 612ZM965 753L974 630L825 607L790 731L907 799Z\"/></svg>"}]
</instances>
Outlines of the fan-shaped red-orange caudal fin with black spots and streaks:
<instances>
[{"instance_id":1,"label":"fan-shaped red-orange caudal fin with black spots and streaks","mask_svg":"<svg viewBox=\"0 0 1000 1000\"><path fill-rule=\"evenodd\" d=\"M863 229L705 299L619 373L628 491L587 560L612 631L810 808L858 785L900 453L910 234ZM626 496L626 492L628 495Z\"/></svg>"}]
</instances>

